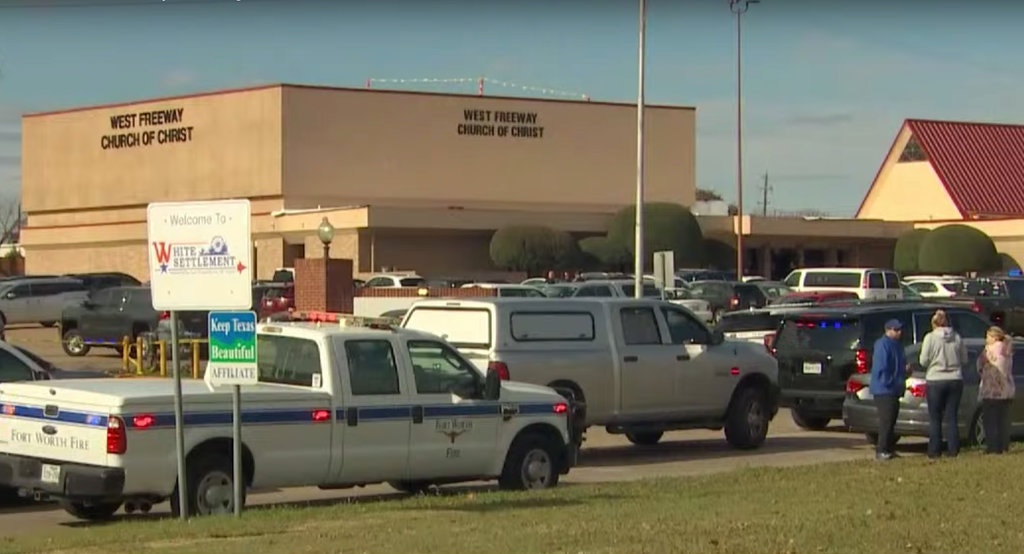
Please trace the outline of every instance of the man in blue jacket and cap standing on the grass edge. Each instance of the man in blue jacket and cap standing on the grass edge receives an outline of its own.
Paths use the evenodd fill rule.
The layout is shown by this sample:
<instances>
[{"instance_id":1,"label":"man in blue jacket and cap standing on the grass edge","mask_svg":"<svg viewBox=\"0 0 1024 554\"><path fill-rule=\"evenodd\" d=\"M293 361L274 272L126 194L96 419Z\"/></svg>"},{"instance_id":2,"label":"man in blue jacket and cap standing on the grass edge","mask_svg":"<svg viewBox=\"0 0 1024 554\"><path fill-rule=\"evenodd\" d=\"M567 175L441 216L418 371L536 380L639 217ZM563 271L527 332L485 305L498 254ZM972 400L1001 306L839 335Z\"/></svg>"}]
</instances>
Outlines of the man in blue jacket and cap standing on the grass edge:
<instances>
[{"instance_id":1,"label":"man in blue jacket and cap standing on the grass edge","mask_svg":"<svg viewBox=\"0 0 1024 554\"><path fill-rule=\"evenodd\" d=\"M899 319L889 319L886 322L885 336L874 341L870 391L879 414L876 460L897 458L894 428L899 416L899 399L906 391L906 354L900 342L902 335L903 324Z\"/></svg>"}]
</instances>

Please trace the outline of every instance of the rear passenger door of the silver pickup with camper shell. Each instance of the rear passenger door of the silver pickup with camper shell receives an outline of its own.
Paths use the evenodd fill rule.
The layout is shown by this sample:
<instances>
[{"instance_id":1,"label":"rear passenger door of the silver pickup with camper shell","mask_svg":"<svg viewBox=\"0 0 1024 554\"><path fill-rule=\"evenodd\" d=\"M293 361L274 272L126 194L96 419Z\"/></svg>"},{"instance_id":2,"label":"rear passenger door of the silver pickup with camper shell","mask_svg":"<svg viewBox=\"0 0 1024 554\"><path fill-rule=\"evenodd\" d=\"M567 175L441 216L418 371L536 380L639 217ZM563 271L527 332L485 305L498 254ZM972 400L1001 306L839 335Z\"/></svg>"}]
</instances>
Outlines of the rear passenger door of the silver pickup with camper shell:
<instances>
[{"instance_id":1,"label":"rear passenger door of the silver pickup with camper shell","mask_svg":"<svg viewBox=\"0 0 1024 554\"><path fill-rule=\"evenodd\" d=\"M676 374L685 350L666 339L668 331L650 304L623 305L612 317L618 359L622 420L645 420L675 413Z\"/></svg>"}]
</instances>

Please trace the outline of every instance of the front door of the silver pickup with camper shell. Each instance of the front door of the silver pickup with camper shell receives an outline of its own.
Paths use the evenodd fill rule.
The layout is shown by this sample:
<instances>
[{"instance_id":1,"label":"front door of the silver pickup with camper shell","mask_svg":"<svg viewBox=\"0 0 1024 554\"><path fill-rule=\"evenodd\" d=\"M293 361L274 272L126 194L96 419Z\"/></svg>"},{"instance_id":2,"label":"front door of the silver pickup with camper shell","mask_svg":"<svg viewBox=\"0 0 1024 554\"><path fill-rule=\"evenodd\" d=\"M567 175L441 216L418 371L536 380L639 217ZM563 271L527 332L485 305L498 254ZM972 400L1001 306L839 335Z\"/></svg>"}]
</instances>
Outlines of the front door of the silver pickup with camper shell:
<instances>
[{"instance_id":1,"label":"front door of the silver pickup with camper shell","mask_svg":"<svg viewBox=\"0 0 1024 554\"><path fill-rule=\"evenodd\" d=\"M700 416L727 406L736 378L731 360L712 346L708 328L679 308L662 308L673 348L685 354L676 364L676 409L682 416Z\"/></svg>"}]
</instances>

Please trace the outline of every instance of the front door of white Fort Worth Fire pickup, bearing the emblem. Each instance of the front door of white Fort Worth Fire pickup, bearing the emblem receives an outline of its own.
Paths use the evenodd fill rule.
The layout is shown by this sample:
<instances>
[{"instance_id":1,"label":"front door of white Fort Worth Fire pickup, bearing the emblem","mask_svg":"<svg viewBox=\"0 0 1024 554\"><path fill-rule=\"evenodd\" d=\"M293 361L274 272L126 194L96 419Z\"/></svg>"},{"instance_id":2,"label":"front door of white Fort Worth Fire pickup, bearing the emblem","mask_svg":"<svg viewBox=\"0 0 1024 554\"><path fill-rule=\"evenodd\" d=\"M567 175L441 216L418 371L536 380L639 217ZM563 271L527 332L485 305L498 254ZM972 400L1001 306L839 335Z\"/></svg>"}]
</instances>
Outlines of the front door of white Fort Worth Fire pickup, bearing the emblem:
<instances>
[{"instance_id":1,"label":"front door of white Fort Worth Fire pickup, bearing the emblem","mask_svg":"<svg viewBox=\"0 0 1024 554\"><path fill-rule=\"evenodd\" d=\"M413 376L410 478L478 477L494 466L500 401L481 398L480 373L449 345L406 343Z\"/></svg>"}]
</instances>

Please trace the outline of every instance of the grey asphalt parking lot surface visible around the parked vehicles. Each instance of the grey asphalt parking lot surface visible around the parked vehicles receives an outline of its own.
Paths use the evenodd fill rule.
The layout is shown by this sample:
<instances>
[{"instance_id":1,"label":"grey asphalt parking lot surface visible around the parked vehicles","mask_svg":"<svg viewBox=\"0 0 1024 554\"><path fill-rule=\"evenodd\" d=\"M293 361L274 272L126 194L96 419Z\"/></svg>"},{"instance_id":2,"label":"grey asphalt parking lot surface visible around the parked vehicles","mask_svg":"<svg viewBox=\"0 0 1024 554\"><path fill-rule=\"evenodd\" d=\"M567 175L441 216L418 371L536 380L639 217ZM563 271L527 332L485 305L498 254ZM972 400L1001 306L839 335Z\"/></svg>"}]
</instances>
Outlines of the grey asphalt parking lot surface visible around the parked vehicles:
<instances>
[{"instance_id":1,"label":"grey asphalt parking lot surface visible around the parked vehicles","mask_svg":"<svg viewBox=\"0 0 1024 554\"><path fill-rule=\"evenodd\" d=\"M84 357L67 356L54 329L39 327L11 328L7 339L29 348L66 370L116 370L121 358L111 351L94 350ZM920 440L906 439L901 450L920 454ZM635 446L625 437L603 430L591 430L581 456L580 466L563 480L565 483L623 481L655 476L700 475L753 466L799 466L826 462L866 459L872 455L863 435L846 432L841 426L821 432L804 431L794 425L786 411L772 422L765 445L756 451L730 448L721 432L681 431L668 433L660 444ZM345 502L357 497L396 498L385 485L349 491L319 491L314 487L255 492L249 505L306 504ZM168 504L154 507L155 514L167 513ZM51 504L26 504L0 508L2 535L45 532L53 525L77 524L72 517Z\"/></svg>"}]
</instances>

